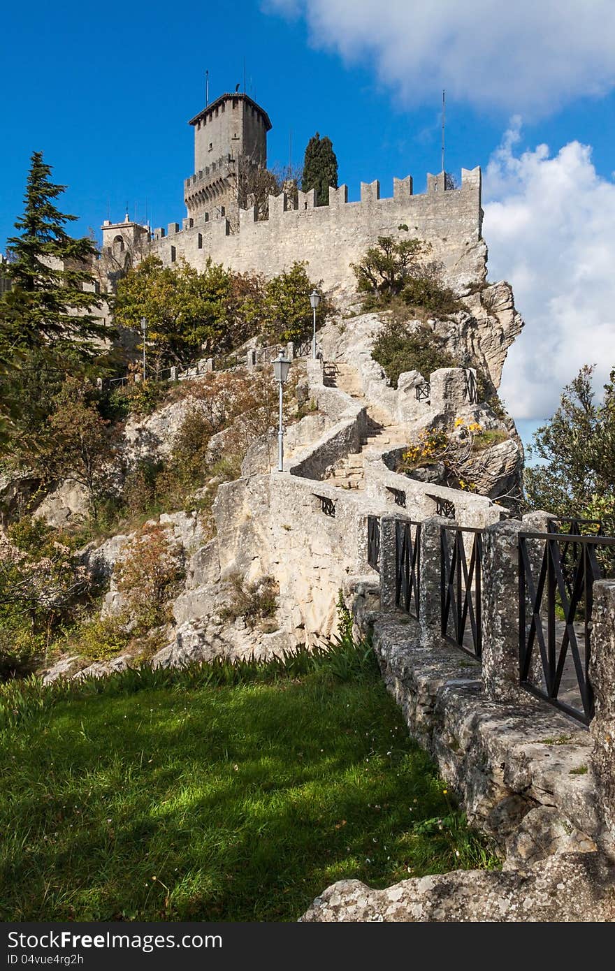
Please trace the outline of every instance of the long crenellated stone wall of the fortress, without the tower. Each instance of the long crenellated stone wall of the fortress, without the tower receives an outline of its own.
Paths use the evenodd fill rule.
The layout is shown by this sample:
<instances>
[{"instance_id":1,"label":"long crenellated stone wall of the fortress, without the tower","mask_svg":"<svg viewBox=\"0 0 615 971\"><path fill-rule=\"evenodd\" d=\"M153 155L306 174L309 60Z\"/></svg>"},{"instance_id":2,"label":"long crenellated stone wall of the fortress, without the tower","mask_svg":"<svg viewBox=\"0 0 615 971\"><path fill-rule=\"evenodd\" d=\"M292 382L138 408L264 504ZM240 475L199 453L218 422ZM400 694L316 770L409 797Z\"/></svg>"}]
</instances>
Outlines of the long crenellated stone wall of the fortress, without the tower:
<instances>
[{"instance_id":1,"label":"long crenellated stone wall of the fortress, without the tower","mask_svg":"<svg viewBox=\"0 0 615 971\"><path fill-rule=\"evenodd\" d=\"M329 189L328 206L315 206L314 192L269 196L268 218L257 208L239 210L236 227L220 212L187 217L182 226L154 229L149 251L164 265L182 259L202 269L208 257L233 269L273 276L305 260L313 280L325 288L350 285L357 262L379 236L416 237L429 258L442 263L450 282L462 288L485 278L481 223L481 170L462 169L461 186L444 187L444 175L427 174L427 191L414 194L411 176L393 180L393 195L380 183L361 183L360 200L348 201L348 186ZM403 228L400 228L403 227Z\"/></svg>"}]
</instances>

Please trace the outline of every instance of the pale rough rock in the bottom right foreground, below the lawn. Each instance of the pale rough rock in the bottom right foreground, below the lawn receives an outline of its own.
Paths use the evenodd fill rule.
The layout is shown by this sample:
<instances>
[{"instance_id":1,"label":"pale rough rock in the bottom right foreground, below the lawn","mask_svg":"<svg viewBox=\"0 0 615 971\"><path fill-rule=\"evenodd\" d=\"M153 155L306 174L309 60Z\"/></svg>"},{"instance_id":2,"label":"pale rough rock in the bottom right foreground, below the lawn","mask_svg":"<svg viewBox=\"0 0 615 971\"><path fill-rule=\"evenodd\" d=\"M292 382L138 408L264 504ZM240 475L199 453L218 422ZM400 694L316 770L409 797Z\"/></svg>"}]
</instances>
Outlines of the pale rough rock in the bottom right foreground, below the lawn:
<instances>
[{"instance_id":1,"label":"pale rough rock in the bottom right foreground, below the lawn","mask_svg":"<svg viewBox=\"0 0 615 971\"><path fill-rule=\"evenodd\" d=\"M303 922L613 921L615 871L595 853L550 856L524 870L456 870L373 890L328 887Z\"/></svg>"}]
</instances>

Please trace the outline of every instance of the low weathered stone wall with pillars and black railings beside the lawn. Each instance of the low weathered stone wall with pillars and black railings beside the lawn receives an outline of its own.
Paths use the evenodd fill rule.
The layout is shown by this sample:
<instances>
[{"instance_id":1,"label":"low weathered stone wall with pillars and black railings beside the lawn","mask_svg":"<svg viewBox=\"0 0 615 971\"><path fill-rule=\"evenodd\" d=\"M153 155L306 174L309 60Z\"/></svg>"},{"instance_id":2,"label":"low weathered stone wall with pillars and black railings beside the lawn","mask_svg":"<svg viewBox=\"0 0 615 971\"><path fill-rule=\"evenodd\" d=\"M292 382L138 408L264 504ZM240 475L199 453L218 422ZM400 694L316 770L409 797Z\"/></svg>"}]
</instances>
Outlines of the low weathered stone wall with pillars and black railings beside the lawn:
<instances>
[{"instance_id":1,"label":"low weathered stone wall with pillars and black railings beside the lawn","mask_svg":"<svg viewBox=\"0 0 615 971\"><path fill-rule=\"evenodd\" d=\"M530 861L615 855L615 581L595 555L615 539L556 535L544 513L373 519L378 576L347 599L470 820Z\"/></svg>"}]
</instances>

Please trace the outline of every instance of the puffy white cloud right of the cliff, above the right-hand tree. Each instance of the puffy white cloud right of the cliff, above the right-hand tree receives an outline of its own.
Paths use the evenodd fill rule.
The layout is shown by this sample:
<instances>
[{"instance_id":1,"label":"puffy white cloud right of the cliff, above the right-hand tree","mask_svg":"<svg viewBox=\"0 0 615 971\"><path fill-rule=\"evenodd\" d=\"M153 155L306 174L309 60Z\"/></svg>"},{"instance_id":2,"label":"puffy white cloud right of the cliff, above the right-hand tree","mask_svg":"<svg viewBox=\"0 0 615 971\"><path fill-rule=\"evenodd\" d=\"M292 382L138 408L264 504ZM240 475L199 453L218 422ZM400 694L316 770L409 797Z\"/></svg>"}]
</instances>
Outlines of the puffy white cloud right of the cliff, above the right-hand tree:
<instances>
[{"instance_id":1,"label":"puffy white cloud right of the cliff, above the right-hand tree","mask_svg":"<svg viewBox=\"0 0 615 971\"><path fill-rule=\"evenodd\" d=\"M490 279L513 285L526 320L501 395L516 418L544 418L582 364L598 364L598 387L615 365L615 184L589 146L515 154L519 140L515 119L485 174L483 233Z\"/></svg>"}]
</instances>

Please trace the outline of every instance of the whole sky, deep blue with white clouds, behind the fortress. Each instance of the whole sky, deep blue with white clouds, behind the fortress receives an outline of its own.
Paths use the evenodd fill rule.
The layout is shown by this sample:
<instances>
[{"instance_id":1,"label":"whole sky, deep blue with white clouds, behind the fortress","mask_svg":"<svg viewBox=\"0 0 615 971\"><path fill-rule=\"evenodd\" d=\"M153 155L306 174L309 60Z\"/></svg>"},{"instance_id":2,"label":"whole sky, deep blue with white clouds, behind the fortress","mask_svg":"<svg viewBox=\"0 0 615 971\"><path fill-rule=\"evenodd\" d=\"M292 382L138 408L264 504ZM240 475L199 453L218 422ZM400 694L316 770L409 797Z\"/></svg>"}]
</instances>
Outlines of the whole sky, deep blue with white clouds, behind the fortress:
<instances>
[{"instance_id":1,"label":"whole sky, deep blue with white clouds, behind the fortress","mask_svg":"<svg viewBox=\"0 0 615 971\"><path fill-rule=\"evenodd\" d=\"M486 6L495 20L485 17ZM446 167L459 174L461 166L483 166L490 272L515 285L527 319L522 352L504 385L510 385L518 415L546 414L557 403L563 378L583 363L575 354L591 350L598 334L603 370L615 341L606 269L597 282L593 259L589 278L581 274L599 291L600 303L584 306L576 321L569 319L568 305L578 296L570 292L565 309L562 289L569 285L572 261L578 267L578 252L587 251L588 223L601 222L615 195L615 54L608 41L615 22L611 7L597 0L599 16L585 16L580 39L572 15L583 10L582 3L560 0L557 21L548 9L551 0L543 6L544 20L536 23L531 18L540 14L529 0L520 0L518 20L510 22L504 17L513 15L500 17L503 8L495 0L468 0L462 18L451 0L435 0L428 17L425 5L414 0L235 0L179 5L175 16L159 0L108 0L102 8L73 0L11 5L0 36L0 249L21 211L34 150L44 151L56 180L69 186L62 205L80 217L79 231L98 231L108 207L111 218L122 218L126 202L131 217L144 219L147 205L155 225L180 220L182 181L192 170L187 121L203 107L206 69L213 98L238 82L243 86L245 56L248 93L273 123L270 163L288 161L290 129L295 162L319 130L333 141L340 182L349 185L351 199L359 197L361 180L380 179L381 194L388 195L393 176L408 173L415 191L424 189L427 171L440 168L446 86ZM437 28L438 7L448 15L446 29ZM512 135L502 148L506 131ZM543 143L546 154L538 148ZM577 143L578 149L561 154ZM557 198L551 208L539 206L533 200L542 199L544 185L554 180L561 185ZM575 203L575 218L567 219L566 193L579 183L582 200ZM520 259L526 240L534 255ZM612 245L604 232L603 246ZM554 314L562 317L557 326ZM590 327L592 337L571 360L566 341L581 326ZM552 334L549 327L555 327ZM559 358L549 352L545 333L559 342ZM540 374L530 386L534 338L543 344ZM610 356L615 363L615 352ZM519 368L525 368L525 384Z\"/></svg>"}]
</instances>

